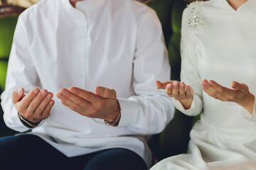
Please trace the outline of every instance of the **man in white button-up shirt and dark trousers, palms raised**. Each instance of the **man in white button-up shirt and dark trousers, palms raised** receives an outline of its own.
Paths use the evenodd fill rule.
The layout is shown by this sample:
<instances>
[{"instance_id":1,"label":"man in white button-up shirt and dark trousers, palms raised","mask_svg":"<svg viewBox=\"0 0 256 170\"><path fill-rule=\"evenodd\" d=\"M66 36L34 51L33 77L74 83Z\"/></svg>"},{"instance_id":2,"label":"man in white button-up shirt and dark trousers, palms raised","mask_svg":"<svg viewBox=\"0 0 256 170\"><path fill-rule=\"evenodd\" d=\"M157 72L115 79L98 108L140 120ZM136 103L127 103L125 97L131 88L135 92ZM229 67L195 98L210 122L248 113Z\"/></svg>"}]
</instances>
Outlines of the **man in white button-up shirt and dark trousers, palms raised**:
<instances>
[{"instance_id":1,"label":"man in white button-up shirt and dark trousers, palms raised","mask_svg":"<svg viewBox=\"0 0 256 170\"><path fill-rule=\"evenodd\" d=\"M161 23L148 6L40 1L18 18L1 95L6 125L31 132L0 139L0 167L149 168L143 135L174 115L154 81L169 77Z\"/></svg>"}]
</instances>

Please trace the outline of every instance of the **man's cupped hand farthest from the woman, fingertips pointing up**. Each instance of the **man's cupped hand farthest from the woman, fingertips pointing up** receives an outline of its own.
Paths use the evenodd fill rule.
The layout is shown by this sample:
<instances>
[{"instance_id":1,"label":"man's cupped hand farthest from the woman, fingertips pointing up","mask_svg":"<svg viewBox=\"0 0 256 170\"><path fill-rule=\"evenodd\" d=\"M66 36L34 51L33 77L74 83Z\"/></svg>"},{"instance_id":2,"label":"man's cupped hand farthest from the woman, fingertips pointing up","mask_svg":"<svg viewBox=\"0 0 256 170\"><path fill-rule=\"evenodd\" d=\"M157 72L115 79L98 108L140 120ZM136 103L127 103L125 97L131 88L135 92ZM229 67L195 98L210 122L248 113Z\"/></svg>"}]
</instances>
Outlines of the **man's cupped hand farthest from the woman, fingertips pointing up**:
<instances>
[{"instance_id":1,"label":"man's cupped hand farthest from the woman, fingertips pointing up","mask_svg":"<svg viewBox=\"0 0 256 170\"><path fill-rule=\"evenodd\" d=\"M18 113L31 123L39 123L50 115L53 108L53 94L47 90L38 88L31 90L24 95L24 89L20 88L13 91L11 99Z\"/></svg>"}]
</instances>

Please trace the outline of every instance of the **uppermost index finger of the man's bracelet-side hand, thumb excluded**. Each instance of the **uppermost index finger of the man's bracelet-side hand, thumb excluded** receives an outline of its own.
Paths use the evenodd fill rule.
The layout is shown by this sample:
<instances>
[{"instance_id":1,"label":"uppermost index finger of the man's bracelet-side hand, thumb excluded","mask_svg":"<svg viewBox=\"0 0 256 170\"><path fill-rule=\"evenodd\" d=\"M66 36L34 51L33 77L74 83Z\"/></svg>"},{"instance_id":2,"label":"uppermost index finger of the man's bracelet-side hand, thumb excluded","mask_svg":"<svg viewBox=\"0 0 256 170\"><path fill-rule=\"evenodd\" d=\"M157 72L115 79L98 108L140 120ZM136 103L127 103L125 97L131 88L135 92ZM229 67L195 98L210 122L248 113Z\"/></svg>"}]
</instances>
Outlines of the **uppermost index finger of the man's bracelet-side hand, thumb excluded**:
<instances>
[{"instance_id":1,"label":"uppermost index finger of the man's bracelet-side hand, thumb excluded","mask_svg":"<svg viewBox=\"0 0 256 170\"><path fill-rule=\"evenodd\" d=\"M78 87L70 87L68 88L68 91L80 96L81 98L84 98L86 101L90 101L91 103L95 103L97 100L100 99L100 96L97 96L90 91L79 89Z\"/></svg>"}]
</instances>

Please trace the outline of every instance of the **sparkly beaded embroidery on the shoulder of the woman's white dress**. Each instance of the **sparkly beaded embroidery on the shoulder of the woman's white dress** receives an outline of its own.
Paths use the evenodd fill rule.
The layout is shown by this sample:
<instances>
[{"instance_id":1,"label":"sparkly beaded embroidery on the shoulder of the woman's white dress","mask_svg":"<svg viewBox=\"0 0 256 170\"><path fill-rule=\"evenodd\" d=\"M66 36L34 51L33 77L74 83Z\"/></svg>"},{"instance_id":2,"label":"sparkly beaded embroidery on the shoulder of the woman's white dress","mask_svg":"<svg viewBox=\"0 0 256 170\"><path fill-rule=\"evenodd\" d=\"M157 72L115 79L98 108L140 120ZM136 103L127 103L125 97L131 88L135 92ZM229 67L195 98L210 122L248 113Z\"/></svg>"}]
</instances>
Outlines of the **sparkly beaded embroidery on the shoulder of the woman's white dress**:
<instances>
[{"instance_id":1,"label":"sparkly beaded embroidery on the shoulder of the woman's white dress","mask_svg":"<svg viewBox=\"0 0 256 170\"><path fill-rule=\"evenodd\" d=\"M199 31L208 27L208 22L203 17L202 6L203 1L195 1L188 5L186 16L188 28Z\"/></svg>"}]
</instances>

